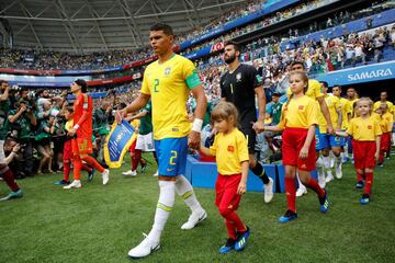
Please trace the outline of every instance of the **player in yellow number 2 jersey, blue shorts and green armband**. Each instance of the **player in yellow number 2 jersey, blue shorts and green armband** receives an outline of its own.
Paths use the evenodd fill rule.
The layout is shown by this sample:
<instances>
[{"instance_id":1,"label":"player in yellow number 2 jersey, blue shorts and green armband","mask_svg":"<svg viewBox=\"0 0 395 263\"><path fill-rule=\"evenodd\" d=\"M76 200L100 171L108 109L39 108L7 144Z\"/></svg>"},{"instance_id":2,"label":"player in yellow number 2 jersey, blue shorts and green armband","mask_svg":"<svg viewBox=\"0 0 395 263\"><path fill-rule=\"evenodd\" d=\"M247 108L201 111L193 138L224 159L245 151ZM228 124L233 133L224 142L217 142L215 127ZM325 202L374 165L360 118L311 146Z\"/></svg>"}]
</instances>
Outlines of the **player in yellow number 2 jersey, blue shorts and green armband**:
<instances>
[{"instance_id":1,"label":"player in yellow number 2 jersey, blue shorts and green armband","mask_svg":"<svg viewBox=\"0 0 395 263\"><path fill-rule=\"evenodd\" d=\"M171 26L151 26L149 42L158 60L146 68L138 96L116 114L120 123L127 112L136 112L151 99L155 149L159 160L159 201L154 226L143 242L128 252L131 258L144 258L159 249L160 236L173 207L176 192L192 210L188 221L181 226L182 229L192 229L207 216L192 185L181 175L185 173L188 146L194 149L200 147L206 96L193 62L173 54L174 35ZM192 130L187 113L187 100L191 91L196 98Z\"/></svg>"}]
</instances>

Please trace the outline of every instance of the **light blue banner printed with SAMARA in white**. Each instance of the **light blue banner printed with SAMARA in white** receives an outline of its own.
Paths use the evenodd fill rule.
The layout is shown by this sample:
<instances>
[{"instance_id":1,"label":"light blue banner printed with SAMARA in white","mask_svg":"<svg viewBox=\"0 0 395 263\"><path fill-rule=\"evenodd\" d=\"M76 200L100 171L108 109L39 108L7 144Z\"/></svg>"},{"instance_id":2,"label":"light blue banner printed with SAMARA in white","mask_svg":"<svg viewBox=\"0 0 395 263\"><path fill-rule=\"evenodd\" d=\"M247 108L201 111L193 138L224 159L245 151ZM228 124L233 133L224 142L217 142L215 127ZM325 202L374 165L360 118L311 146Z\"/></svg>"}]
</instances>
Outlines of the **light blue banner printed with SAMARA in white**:
<instances>
[{"instance_id":1,"label":"light blue banner printed with SAMARA in white","mask_svg":"<svg viewBox=\"0 0 395 263\"><path fill-rule=\"evenodd\" d=\"M395 61L381 62L358 68L331 71L318 76L318 81L326 81L329 85L357 84L395 78Z\"/></svg>"}]
</instances>

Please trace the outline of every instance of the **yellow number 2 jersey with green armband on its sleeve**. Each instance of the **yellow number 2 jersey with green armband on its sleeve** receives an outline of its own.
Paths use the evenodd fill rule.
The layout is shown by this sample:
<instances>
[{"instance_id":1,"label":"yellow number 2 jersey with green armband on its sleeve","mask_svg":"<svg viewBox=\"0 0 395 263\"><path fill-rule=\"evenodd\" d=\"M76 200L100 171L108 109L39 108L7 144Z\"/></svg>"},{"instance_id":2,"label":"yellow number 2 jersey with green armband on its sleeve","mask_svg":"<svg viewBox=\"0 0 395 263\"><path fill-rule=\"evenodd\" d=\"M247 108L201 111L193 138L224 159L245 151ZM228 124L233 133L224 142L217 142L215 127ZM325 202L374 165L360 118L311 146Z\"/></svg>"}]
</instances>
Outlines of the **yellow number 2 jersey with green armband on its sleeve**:
<instances>
[{"instance_id":1,"label":"yellow number 2 jersey with green armband on its sleeve","mask_svg":"<svg viewBox=\"0 0 395 263\"><path fill-rule=\"evenodd\" d=\"M154 138L181 138L190 133L187 100L191 89L200 85L193 62L173 54L167 61L148 65L142 93L151 96Z\"/></svg>"}]
</instances>

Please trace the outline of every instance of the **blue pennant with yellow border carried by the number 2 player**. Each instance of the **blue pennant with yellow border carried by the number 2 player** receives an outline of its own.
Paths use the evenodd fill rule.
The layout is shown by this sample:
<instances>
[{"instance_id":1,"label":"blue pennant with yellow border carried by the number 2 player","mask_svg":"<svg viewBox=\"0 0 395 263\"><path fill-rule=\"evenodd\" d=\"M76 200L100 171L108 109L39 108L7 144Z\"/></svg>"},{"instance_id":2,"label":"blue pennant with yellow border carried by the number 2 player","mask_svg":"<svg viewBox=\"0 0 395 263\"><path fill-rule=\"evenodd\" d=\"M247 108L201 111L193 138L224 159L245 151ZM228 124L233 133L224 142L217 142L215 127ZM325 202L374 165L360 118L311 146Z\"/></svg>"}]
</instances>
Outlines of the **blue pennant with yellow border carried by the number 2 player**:
<instances>
[{"instance_id":1,"label":"blue pennant with yellow border carried by the number 2 player","mask_svg":"<svg viewBox=\"0 0 395 263\"><path fill-rule=\"evenodd\" d=\"M125 119L121 124L114 122L110 134L105 138L104 160L110 168L120 168L133 142L135 129Z\"/></svg>"}]
</instances>

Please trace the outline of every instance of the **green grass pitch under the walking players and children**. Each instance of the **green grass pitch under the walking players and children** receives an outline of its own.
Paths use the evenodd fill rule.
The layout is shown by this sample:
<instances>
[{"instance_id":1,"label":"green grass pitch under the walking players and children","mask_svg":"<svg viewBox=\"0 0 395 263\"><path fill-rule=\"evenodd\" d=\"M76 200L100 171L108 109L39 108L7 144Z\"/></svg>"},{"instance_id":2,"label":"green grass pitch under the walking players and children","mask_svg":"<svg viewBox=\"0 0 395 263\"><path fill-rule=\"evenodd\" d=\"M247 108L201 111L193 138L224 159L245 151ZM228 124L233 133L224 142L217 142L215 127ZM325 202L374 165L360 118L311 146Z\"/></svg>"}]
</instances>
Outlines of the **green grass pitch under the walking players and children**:
<instances>
[{"instance_id":1,"label":"green grass pitch under the walking players and children","mask_svg":"<svg viewBox=\"0 0 395 263\"><path fill-rule=\"evenodd\" d=\"M150 155L146 158L150 160ZM126 158L128 159L128 158ZM319 211L309 191L297 198L298 219L281 225L284 194L263 204L262 193L247 193L239 214L251 229L242 252L222 255L226 240L223 219L214 206L214 191L195 188L208 218L192 230L181 230L190 211L180 197L166 226L161 248L140 262L394 262L395 157L376 168L372 202L362 206L350 164L343 178L328 186L330 210ZM153 162L154 163L154 162ZM19 181L21 199L0 203L0 262L131 262L127 252L150 230L158 199L156 167L137 176L112 170L110 183L100 175L82 188L54 185L57 173ZM9 193L0 181L0 195Z\"/></svg>"}]
</instances>

